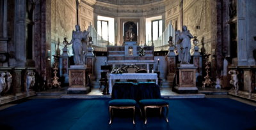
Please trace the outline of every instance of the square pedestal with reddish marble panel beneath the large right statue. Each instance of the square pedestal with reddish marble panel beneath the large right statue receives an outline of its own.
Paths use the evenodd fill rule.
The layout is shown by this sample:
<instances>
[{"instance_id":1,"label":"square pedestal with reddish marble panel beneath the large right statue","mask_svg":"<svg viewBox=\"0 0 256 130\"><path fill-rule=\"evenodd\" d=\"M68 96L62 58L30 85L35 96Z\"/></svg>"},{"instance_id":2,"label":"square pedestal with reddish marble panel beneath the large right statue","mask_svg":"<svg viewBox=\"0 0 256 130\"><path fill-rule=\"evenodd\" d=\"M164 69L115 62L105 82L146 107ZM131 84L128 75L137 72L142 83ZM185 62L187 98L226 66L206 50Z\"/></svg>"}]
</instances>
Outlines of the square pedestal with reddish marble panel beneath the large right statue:
<instances>
[{"instance_id":1,"label":"square pedestal with reddish marble panel beneath the large right statue","mask_svg":"<svg viewBox=\"0 0 256 130\"><path fill-rule=\"evenodd\" d=\"M177 64L179 73L178 85L174 90L178 93L197 93L196 87L196 67L193 64Z\"/></svg>"}]
</instances>

